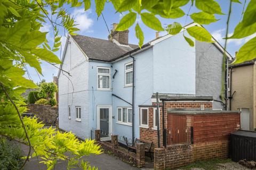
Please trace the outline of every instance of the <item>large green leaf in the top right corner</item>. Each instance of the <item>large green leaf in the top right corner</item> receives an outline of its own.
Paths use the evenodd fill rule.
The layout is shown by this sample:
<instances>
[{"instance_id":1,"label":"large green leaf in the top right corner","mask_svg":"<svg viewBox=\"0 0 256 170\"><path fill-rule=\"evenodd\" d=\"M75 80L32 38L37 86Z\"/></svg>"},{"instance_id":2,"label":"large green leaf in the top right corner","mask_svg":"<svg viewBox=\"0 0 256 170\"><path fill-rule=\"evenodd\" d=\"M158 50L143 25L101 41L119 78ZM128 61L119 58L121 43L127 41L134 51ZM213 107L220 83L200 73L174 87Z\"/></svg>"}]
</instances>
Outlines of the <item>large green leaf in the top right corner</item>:
<instances>
[{"instance_id":1,"label":"large green leaf in the top right corner","mask_svg":"<svg viewBox=\"0 0 256 170\"><path fill-rule=\"evenodd\" d=\"M242 22L245 27L256 23L256 0L251 0L247 5Z\"/></svg>"}]
</instances>

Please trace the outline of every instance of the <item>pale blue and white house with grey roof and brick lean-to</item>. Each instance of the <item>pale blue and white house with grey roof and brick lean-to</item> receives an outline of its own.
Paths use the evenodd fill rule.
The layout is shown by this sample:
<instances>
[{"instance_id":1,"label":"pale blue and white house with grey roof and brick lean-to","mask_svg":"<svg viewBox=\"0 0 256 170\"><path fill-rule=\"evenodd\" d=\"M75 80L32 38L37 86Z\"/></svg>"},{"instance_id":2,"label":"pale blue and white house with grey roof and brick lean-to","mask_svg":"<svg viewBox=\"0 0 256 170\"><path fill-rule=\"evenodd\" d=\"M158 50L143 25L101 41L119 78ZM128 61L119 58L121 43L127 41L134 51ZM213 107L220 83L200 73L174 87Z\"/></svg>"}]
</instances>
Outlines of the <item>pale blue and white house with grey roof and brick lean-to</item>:
<instances>
[{"instance_id":1,"label":"pale blue and white house with grey roof and brick lean-to","mask_svg":"<svg viewBox=\"0 0 256 170\"><path fill-rule=\"evenodd\" d=\"M68 37L61 69L71 76L58 73L60 129L83 139L90 138L94 128L153 140L147 135L156 137L156 92L165 99L166 110L224 108L220 95L225 50L218 42L194 40L190 47L180 32L157 37L140 49L129 44L128 30L118 32L115 27L108 40Z\"/></svg>"}]
</instances>

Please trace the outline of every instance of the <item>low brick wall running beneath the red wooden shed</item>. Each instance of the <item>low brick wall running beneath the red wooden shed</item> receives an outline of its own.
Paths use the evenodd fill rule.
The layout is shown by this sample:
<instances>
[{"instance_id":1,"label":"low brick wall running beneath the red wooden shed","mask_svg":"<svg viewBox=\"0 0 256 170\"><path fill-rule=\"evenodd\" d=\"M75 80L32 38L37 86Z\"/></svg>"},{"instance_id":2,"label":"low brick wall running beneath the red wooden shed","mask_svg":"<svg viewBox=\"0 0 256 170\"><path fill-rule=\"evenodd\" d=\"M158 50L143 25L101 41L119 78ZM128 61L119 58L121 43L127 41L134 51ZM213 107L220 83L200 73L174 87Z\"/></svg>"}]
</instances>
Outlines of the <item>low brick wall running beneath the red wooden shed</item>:
<instances>
[{"instance_id":1,"label":"low brick wall running beneath the red wooden shed","mask_svg":"<svg viewBox=\"0 0 256 170\"><path fill-rule=\"evenodd\" d=\"M229 141L207 141L202 143L177 144L166 148L155 148L154 168L177 168L197 160L228 158Z\"/></svg>"}]
</instances>

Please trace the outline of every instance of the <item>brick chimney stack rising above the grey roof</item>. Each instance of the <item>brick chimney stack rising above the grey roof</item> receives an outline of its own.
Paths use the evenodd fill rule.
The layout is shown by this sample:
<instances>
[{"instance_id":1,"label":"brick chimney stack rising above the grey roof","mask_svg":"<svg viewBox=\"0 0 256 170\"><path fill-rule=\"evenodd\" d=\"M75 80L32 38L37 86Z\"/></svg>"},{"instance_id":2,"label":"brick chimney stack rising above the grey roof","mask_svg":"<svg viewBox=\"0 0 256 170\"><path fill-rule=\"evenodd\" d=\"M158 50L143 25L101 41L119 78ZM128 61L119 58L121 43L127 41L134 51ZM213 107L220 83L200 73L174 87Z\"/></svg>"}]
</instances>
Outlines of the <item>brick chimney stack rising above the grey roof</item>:
<instances>
[{"instance_id":1,"label":"brick chimney stack rising above the grey roof","mask_svg":"<svg viewBox=\"0 0 256 170\"><path fill-rule=\"evenodd\" d=\"M117 23L113 23L113 29L111 29L110 35L108 35L108 40L115 39L120 44L128 45L129 40L129 30L125 31L116 31Z\"/></svg>"}]
</instances>

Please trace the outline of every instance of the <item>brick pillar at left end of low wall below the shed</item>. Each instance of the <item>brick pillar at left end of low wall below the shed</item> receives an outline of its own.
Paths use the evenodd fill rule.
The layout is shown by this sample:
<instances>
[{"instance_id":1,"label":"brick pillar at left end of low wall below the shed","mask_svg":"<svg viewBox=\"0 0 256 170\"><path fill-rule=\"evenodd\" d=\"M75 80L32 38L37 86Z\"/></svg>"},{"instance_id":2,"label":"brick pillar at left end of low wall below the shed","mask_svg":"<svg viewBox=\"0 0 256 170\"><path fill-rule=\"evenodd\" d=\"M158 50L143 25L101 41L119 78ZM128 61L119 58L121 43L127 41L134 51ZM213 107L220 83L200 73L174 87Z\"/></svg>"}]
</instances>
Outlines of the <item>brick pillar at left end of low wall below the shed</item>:
<instances>
[{"instance_id":1,"label":"brick pillar at left end of low wall below the shed","mask_svg":"<svg viewBox=\"0 0 256 170\"><path fill-rule=\"evenodd\" d=\"M155 148L154 150L154 169L164 169L164 148Z\"/></svg>"}]
</instances>

